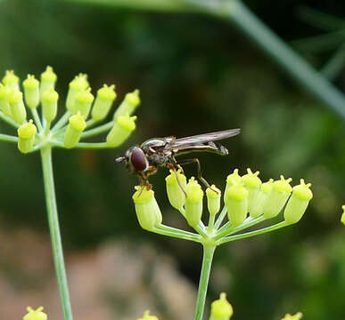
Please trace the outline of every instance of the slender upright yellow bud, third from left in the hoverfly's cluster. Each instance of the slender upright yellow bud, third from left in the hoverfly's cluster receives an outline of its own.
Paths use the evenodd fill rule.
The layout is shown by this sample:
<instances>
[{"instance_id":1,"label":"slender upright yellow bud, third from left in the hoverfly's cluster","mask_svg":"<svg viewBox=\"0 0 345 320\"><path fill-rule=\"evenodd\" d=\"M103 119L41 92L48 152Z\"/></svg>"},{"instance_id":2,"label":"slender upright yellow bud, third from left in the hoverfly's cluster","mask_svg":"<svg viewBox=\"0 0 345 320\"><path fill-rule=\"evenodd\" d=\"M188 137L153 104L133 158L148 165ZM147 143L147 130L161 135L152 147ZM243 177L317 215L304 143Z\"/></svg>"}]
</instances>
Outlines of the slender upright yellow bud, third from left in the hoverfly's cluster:
<instances>
[{"instance_id":1,"label":"slender upright yellow bud, third from left in the hoverfly's cluster","mask_svg":"<svg viewBox=\"0 0 345 320\"><path fill-rule=\"evenodd\" d=\"M192 177L186 187L185 219L195 228L201 220L203 191L198 181Z\"/></svg>"}]
</instances>

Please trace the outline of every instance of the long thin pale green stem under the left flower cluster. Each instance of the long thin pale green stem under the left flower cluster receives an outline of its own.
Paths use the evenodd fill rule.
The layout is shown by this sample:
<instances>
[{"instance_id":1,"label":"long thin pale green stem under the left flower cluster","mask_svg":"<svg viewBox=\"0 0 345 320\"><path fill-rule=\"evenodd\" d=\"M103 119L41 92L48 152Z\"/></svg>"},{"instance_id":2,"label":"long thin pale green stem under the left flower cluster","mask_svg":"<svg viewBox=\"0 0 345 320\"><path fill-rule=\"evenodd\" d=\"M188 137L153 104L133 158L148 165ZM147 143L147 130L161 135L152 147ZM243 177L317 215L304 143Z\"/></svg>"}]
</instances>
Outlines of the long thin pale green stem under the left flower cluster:
<instances>
[{"instance_id":1,"label":"long thin pale green stem under the left flower cluster","mask_svg":"<svg viewBox=\"0 0 345 320\"><path fill-rule=\"evenodd\" d=\"M52 148L50 146L41 148L41 159L45 183L45 201L52 239L53 262L60 291L60 299L62 302L62 314L64 320L73 320L72 310L70 308L70 294L62 253L62 238L60 235L55 189L53 185Z\"/></svg>"}]
</instances>

